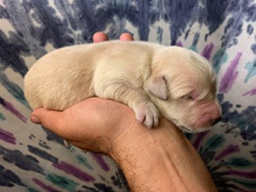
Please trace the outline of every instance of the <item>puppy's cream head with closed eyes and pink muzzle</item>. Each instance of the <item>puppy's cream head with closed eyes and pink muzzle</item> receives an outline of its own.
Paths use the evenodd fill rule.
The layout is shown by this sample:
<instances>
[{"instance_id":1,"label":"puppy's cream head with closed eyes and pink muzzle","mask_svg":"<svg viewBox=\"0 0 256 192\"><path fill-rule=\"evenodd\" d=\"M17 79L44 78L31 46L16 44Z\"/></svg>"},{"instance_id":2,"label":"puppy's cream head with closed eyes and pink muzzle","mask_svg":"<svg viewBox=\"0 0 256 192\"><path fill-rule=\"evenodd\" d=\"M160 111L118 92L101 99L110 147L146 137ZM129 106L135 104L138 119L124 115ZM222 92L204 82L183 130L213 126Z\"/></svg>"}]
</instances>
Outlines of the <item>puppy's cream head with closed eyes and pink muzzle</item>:
<instances>
[{"instance_id":1,"label":"puppy's cream head with closed eyes and pink muzzle","mask_svg":"<svg viewBox=\"0 0 256 192\"><path fill-rule=\"evenodd\" d=\"M220 120L214 70L196 52L181 47L157 52L146 89L161 114L182 131L206 131Z\"/></svg>"}]
</instances>

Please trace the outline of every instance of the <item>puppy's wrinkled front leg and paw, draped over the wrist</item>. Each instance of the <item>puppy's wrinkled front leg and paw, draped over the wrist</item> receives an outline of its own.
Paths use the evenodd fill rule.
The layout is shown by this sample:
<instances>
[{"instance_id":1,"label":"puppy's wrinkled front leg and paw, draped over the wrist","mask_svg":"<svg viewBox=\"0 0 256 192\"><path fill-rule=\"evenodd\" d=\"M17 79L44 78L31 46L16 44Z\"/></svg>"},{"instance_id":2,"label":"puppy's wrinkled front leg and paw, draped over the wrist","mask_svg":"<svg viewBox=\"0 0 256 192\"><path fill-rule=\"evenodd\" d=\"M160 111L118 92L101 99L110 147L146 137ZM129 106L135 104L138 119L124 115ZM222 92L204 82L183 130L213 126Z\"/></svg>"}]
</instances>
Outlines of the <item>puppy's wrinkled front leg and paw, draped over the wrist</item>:
<instances>
[{"instance_id":1,"label":"puppy's wrinkled front leg and paw, draped over the wrist","mask_svg":"<svg viewBox=\"0 0 256 192\"><path fill-rule=\"evenodd\" d=\"M143 122L148 128L157 127L159 110L150 101L146 92L136 88L124 80L104 80L95 87L97 96L120 101L128 105L136 115L138 122Z\"/></svg>"}]
</instances>

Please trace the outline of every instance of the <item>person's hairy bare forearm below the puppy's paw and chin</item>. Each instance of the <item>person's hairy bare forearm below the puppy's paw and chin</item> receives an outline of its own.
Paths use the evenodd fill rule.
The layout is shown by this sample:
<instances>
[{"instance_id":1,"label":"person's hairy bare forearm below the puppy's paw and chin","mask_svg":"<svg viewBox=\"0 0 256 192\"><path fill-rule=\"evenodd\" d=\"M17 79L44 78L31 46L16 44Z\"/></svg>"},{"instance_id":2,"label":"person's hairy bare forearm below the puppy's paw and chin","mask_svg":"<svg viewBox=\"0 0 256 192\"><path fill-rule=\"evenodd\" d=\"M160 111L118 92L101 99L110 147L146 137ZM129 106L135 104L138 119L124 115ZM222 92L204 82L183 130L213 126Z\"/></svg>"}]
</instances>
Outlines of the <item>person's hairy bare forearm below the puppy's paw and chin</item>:
<instances>
[{"instance_id":1,"label":"person's hairy bare forearm below the puppy's paw and chin","mask_svg":"<svg viewBox=\"0 0 256 192\"><path fill-rule=\"evenodd\" d=\"M170 122L131 129L112 156L132 191L217 191L198 152Z\"/></svg>"}]
</instances>

